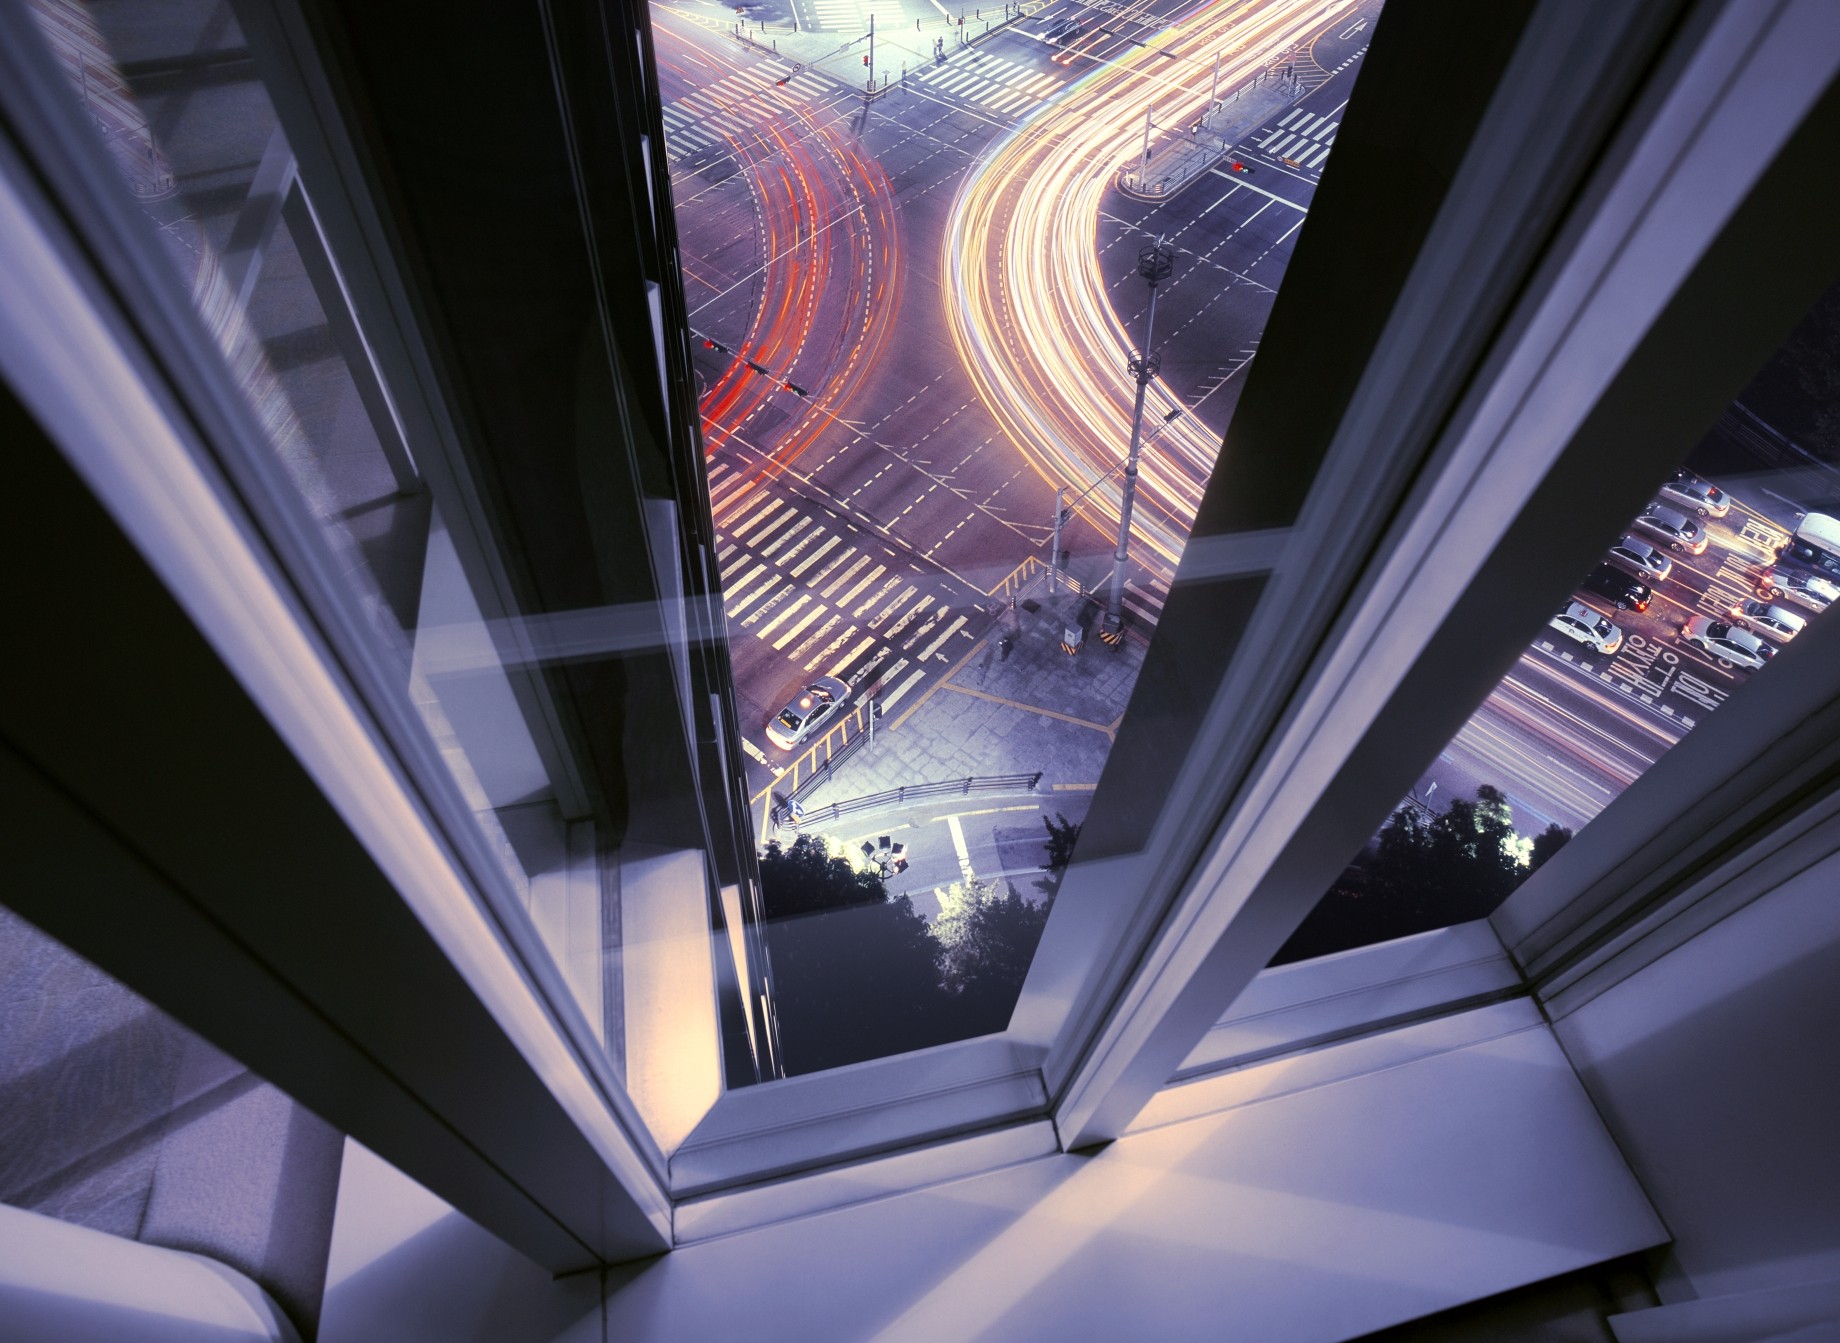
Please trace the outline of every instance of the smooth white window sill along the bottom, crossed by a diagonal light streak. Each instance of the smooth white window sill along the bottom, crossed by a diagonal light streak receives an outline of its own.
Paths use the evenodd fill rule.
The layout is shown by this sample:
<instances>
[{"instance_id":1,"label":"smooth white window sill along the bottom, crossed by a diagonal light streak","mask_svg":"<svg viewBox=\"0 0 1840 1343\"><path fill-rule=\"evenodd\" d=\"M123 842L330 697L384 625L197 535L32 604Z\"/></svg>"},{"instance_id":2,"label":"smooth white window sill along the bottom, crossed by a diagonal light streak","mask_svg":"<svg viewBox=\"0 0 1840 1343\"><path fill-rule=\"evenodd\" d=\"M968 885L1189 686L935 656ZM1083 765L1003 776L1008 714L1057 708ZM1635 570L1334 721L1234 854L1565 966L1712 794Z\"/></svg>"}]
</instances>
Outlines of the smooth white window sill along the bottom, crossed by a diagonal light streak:
<instances>
[{"instance_id":1,"label":"smooth white window sill along the bottom, crossed by a diagonal light streak","mask_svg":"<svg viewBox=\"0 0 1840 1343\"><path fill-rule=\"evenodd\" d=\"M616 1269L605 1337L1327 1343L1665 1238L1529 1003L1341 1049L1190 1084L1227 1108L1095 1155ZM346 1170L322 1343L600 1337L591 1282Z\"/></svg>"}]
</instances>

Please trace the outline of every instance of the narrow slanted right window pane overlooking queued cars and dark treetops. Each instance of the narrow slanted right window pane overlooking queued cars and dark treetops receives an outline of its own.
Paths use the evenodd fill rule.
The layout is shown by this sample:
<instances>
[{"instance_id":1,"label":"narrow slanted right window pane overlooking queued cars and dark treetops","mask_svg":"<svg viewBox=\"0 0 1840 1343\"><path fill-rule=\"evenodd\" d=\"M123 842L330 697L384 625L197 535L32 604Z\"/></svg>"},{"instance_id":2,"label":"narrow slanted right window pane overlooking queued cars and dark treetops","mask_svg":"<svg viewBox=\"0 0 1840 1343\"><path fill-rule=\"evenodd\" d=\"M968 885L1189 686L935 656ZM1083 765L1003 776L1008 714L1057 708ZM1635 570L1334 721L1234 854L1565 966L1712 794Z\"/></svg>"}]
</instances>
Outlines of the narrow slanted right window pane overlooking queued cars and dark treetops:
<instances>
[{"instance_id":1,"label":"narrow slanted right window pane overlooking queued cars and dark treetops","mask_svg":"<svg viewBox=\"0 0 1840 1343\"><path fill-rule=\"evenodd\" d=\"M1840 600L1840 287L1463 725L1273 964L1483 918Z\"/></svg>"}]
</instances>

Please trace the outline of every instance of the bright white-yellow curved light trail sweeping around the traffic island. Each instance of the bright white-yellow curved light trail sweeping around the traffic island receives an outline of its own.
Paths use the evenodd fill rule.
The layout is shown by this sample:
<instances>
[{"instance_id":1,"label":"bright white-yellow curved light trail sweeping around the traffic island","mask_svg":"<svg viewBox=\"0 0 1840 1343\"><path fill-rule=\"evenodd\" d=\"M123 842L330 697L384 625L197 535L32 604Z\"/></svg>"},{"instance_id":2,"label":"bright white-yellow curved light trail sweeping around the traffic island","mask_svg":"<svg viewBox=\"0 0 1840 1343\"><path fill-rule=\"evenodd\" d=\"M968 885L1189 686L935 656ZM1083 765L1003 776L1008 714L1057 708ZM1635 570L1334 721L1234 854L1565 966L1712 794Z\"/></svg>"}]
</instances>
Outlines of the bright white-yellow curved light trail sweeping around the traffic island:
<instances>
[{"instance_id":1,"label":"bright white-yellow curved light trail sweeping around the traffic island","mask_svg":"<svg viewBox=\"0 0 1840 1343\"><path fill-rule=\"evenodd\" d=\"M1143 333L1126 331L1106 296L1098 208L1117 169L1141 153L1144 112L1165 127L1192 123L1216 55L1220 86L1231 88L1347 7L1244 0L1190 11L1069 85L997 140L959 188L942 250L951 339L984 405L1049 484L1102 480L1130 447L1126 361ZM1181 254L1176 265L1179 274ZM1146 423L1179 405L1156 381ZM1170 565L1218 451L1220 438L1185 416L1159 427L1141 458L1133 535ZM1117 482L1100 484L1087 506L1117 528Z\"/></svg>"}]
</instances>

